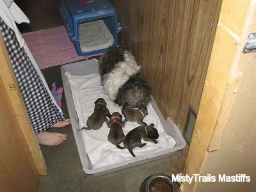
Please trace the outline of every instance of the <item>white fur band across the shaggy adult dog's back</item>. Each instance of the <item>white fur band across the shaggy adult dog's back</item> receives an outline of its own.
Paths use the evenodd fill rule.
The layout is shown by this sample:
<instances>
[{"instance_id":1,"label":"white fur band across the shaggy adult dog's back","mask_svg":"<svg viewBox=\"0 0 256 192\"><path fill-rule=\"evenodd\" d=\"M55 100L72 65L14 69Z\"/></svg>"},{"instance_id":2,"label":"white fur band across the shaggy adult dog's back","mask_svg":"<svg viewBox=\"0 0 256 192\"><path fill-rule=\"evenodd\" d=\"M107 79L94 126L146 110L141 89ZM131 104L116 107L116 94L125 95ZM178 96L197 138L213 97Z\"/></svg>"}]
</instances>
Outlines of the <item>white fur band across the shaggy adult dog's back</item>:
<instances>
[{"instance_id":1,"label":"white fur band across the shaggy adult dog's back","mask_svg":"<svg viewBox=\"0 0 256 192\"><path fill-rule=\"evenodd\" d=\"M104 75L104 91L109 99L114 101L118 88L122 86L130 76L140 72L140 66L136 63L135 57L129 51L124 52L124 61L118 62L115 69Z\"/></svg>"}]
</instances>

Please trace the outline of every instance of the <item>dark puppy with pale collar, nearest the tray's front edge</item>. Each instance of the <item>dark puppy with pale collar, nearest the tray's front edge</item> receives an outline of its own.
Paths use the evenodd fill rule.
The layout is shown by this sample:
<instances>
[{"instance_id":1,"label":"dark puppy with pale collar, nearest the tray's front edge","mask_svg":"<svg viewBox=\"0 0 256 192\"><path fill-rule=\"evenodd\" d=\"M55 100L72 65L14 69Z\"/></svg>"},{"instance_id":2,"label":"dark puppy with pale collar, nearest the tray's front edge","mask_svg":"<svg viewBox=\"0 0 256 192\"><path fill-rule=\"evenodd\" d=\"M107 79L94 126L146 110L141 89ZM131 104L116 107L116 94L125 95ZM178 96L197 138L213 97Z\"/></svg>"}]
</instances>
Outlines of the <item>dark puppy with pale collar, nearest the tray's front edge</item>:
<instances>
[{"instance_id":1,"label":"dark puppy with pale collar, nearest the tray's front edge","mask_svg":"<svg viewBox=\"0 0 256 192\"><path fill-rule=\"evenodd\" d=\"M135 147L141 148L147 145L147 143L141 143L141 138L143 138L143 140L145 141L158 143L156 139L159 138L159 134L157 132L157 129L154 128L154 124L141 125L139 127L136 127L132 129L132 131L128 132L127 135L125 136L125 139L123 141L124 147L128 148L129 152L134 157L135 155L132 152L132 148L135 148Z\"/></svg>"}]
</instances>

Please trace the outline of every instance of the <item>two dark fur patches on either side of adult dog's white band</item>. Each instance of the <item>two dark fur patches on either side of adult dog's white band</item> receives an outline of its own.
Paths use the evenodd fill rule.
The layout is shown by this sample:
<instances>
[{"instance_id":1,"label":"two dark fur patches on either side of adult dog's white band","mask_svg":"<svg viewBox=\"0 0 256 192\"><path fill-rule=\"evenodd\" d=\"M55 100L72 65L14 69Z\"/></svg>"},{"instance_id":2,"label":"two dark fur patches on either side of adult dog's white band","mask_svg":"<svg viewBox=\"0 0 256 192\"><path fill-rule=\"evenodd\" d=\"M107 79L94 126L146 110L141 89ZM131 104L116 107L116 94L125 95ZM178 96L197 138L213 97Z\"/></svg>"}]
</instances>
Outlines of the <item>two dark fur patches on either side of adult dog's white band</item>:
<instances>
[{"instance_id":1,"label":"two dark fur patches on either side of adult dog's white band","mask_svg":"<svg viewBox=\"0 0 256 192\"><path fill-rule=\"evenodd\" d=\"M118 62L124 61L125 51L129 51L129 49L125 49L124 47L109 47L108 51L104 53L99 61L99 72L102 84L104 84L103 76L114 70ZM140 108L140 106L148 105L150 95L150 86L147 84L141 72L138 72L129 77L129 79L120 86L114 102L119 106L127 104L132 108Z\"/></svg>"}]
</instances>

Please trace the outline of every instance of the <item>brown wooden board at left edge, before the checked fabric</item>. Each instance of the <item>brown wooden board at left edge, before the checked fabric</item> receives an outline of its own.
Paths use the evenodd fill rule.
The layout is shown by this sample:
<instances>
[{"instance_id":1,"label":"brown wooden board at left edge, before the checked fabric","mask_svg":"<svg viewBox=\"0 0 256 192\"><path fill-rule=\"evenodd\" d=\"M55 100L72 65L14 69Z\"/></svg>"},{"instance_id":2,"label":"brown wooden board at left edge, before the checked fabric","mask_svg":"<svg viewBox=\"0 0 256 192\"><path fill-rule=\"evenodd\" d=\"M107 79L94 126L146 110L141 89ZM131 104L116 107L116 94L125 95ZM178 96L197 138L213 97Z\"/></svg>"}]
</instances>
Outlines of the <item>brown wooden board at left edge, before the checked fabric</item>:
<instances>
[{"instance_id":1,"label":"brown wooden board at left edge, before the checked fabric","mask_svg":"<svg viewBox=\"0 0 256 192\"><path fill-rule=\"evenodd\" d=\"M44 159L1 35L0 63L0 191L37 191Z\"/></svg>"}]
</instances>

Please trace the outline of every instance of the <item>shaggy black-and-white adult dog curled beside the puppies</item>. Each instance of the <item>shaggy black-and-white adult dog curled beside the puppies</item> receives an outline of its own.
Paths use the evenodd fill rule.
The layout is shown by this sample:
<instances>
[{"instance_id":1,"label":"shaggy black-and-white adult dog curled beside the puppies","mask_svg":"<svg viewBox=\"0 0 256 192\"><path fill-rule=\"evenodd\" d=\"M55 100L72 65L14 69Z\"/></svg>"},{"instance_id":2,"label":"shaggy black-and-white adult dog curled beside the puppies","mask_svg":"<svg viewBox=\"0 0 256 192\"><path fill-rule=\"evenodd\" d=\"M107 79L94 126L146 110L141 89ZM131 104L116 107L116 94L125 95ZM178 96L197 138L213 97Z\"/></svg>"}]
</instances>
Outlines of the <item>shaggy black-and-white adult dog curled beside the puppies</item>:
<instances>
[{"instance_id":1,"label":"shaggy black-and-white adult dog curled beside the puppies","mask_svg":"<svg viewBox=\"0 0 256 192\"><path fill-rule=\"evenodd\" d=\"M99 72L104 92L110 100L119 106L147 106L151 88L140 68L131 51L123 47L109 47L100 58Z\"/></svg>"}]
</instances>

